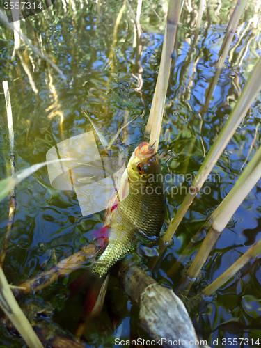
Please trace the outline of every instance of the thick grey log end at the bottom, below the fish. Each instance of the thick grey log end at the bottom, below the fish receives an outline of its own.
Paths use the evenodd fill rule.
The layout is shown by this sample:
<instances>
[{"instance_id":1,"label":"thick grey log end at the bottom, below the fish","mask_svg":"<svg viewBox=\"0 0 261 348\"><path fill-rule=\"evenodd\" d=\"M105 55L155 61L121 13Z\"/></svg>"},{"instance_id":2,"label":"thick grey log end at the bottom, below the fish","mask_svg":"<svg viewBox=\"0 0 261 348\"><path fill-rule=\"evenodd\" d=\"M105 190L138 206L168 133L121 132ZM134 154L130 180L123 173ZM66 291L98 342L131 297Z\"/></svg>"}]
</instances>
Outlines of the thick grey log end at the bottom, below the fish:
<instances>
[{"instance_id":1,"label":"thick grey log end at the bottom, below the fish","mask_svg":"<svg viewBox=\"0 0 261 348\"><path fill-rule=\"evenodd\" d=\"M169 341L179 342L176 347L209 347L196 345L198 338L187 310L171 289L159 285L138 267L123 269L119 278L126 294L139 305L139 324L152 339L163 347L170 347Z\"/></svg>"}]
</instances>

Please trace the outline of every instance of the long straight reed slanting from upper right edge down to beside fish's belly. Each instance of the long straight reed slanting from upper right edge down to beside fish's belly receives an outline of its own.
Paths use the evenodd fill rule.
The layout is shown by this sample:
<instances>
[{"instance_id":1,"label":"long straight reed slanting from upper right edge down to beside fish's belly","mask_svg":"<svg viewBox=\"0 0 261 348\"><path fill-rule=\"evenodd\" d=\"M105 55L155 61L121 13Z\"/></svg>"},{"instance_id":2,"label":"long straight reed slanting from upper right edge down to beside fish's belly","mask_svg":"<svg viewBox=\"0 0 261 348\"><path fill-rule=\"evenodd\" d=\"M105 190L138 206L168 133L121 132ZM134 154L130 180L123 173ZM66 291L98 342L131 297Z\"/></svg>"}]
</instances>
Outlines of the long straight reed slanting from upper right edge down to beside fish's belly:
<instances>
[{"instance_id":1,"label":"long straight reed slanting from upper right edge down to beside fish's belly","mask_svg":"<svg viewBox=\"0 0 261 348\"><path fill-rule=\"evenodd\" d=\"M193 202L193 199L196 197L198 191L200 191L203 186L205 180L207 179L209 173L212 171L212 168L216 164L216 161L219 159L221 153L228 145L228 141L232 138L235 133L237 127L239 126L242 118L244 118L246 111L251 107L251 104L255 100L255 96L258 94L261 88L261 58L259 58L258 63L255 65L255 69L251 74L251 77L248 79L246 86L242 91L242 95L240 95L237 104L235 104L226 125L224 125L221 133L218 138L212 145L212 148L209 150L209 153L205 157L203 164L200 166L198 174L193 180L189 192L187 196L184 198L182 205L177 210L177 214L171 221L170 226L168 226L168 230L163 236L163 242L168 243L171 242L171 239L177 230L177 227L180 225L180 221L184 214L186 214L189 206Z\"/></svg>"}]
</instances>

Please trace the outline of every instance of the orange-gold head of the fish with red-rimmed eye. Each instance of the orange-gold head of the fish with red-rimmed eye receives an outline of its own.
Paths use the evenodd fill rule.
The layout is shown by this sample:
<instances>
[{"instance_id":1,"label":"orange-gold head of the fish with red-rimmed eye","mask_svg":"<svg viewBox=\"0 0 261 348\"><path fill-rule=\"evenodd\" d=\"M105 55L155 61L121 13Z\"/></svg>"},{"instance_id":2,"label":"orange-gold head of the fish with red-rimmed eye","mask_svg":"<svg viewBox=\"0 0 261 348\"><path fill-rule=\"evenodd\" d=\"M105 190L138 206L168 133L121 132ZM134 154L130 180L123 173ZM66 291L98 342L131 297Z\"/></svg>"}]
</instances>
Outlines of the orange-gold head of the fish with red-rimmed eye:
<instances>
[{"instance_id":1,"label":"orange-gold head of the fish with red-rimmed eye","mask_svg":"<svg viewBox=\"0 0 261 348\"><path fill-rule=\"evenodd\" d=\"M155 147L149 143L141 143L129 159L127 166L129 180L141 184L146 184L148 181L155 182L160 173L160 161Z\"/></svg>"}]
</instances>

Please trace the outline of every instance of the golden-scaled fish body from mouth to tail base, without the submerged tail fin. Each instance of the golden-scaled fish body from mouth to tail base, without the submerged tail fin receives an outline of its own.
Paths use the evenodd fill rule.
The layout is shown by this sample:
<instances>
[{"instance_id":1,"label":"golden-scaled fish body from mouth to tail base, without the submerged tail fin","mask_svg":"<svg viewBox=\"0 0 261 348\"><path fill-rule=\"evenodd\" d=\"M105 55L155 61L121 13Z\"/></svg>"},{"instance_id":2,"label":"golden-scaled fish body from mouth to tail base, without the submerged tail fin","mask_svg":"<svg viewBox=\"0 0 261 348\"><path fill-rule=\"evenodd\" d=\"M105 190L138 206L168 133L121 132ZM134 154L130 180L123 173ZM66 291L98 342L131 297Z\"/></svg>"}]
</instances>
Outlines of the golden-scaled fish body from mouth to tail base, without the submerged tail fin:
<instances>
[{"instance_id":1,"label":"golden-scaled fish body from mouth to tail base, without the submerged tail fin","mask_svg":"<svg viewBox=\"0 0 261 348\"><path fill-rule=\"evenodd\" d=\"M122 176L117 203L109 210L109 242L93 267L100 277L140 242L159 236L166 211L166 197L159 156L154 146L141 143L133 152ZM108 221L109 219L109 221Z\"/></svg>"}]
</instances>

